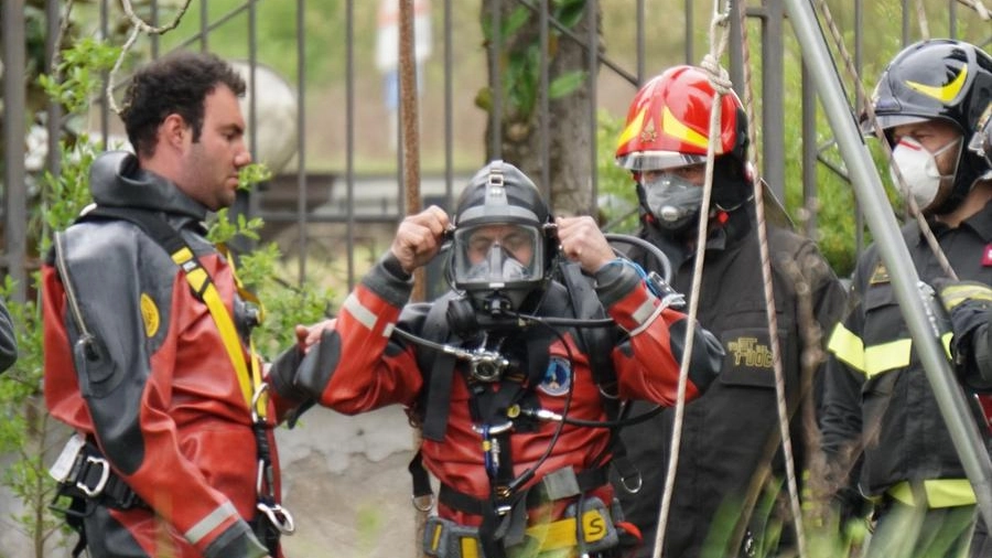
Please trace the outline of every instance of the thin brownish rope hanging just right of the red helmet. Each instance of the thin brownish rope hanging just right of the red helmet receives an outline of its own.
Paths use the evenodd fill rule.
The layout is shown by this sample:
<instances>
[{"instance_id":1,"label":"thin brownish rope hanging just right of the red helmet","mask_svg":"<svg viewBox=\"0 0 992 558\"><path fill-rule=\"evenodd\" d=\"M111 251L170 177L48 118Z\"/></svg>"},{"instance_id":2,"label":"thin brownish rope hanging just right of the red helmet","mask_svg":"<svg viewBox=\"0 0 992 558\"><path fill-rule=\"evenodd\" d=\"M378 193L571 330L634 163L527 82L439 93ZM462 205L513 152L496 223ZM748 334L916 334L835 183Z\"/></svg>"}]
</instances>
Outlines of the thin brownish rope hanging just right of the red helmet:
<instances>
[{"instance_id":1,"label":"thin brownish rope hanging just right of the red helmet","mask_svg":"<svg viewBox=\"0 0 992 558\"><path fill-rule=\"evenodd\" d=\"M794 527L796 529L797 551L800 558L806 554L806 529L802 522L802 507L799 501L799 483L796 480L796 459L792 451L792 437L789 428L789 407L786 398L785 374L781 364L781 346L778 340L778 312L775 304L775 288L772 278L772 257L768 250L768 224L765 218L765 192L761 170L757 164L757 126L754 119L754 94L752 88L751 49L747 44L747 11L744 2L737 2L737 18L741 25L741 47L744 53L744 97L746 99L747 118L751 126L747 128L750 135L746 158L747 164L753 173L752 180L754 184L754 207L755 219L757 221L758 250L762 260L762 279L765 292L765 311L768 319L768 340L772 348L772 367L775 373L775 403L778 409L778 428L781 436L783 461L786 473L786 484L789 493L789 505L792 513ZM797 290L798 296L798 290ZM806 345L804 345L806 346ZM797 405L801 399L797 400ZM767 471L769 473L770 471ZM762 482L753 482L748 487L746 502L748 508L753 509L753 503L757 500L761 492ZM750 516L750 514L748 514ZM743 538L744 529L747 522L738 522L737 529L734 533L733 540Z\"/></svg>"}]
</instances>

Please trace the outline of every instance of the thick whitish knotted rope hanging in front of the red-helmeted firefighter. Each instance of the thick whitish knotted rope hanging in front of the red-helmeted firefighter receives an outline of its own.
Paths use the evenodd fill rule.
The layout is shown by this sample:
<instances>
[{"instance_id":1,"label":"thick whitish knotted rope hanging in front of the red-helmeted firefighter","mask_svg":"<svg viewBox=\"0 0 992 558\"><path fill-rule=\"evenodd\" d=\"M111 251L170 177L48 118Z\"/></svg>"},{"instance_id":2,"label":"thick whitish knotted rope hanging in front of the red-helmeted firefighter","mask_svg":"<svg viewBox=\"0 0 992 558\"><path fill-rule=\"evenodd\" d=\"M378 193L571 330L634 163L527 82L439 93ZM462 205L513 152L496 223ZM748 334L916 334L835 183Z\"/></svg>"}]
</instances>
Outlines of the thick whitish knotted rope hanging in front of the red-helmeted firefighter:
<instances>
[{"instance_id":1,"label":"thick whitish knotted rope hanging in front of the red-helmeted firefighter","mask_svg":"<svg viewBox=\"0 0 992 558\"><path fill-rule=\"evenodd\" d=\"M720 67L720 56L723 54L723 51L726 49L726 44L729 41L729 29L727 29L727 14L730 11L729 7L730 0L726 0L726 7L723 11L720 10L720 0L713 0L713 18L710 21L710 53L703 57L702 67L707 69L710 74L710 82L713 84L713 107L715 109L710 110L710 141L707 146L707 172L705 180L703 182L703 198L702 198L702 207L709 213L710 207L710 198L712 197L713 191L713 162L715 159L716 151L716 141L720 138L720 103L725 95L730 90L730 78L726 75L726 72ZM720 36L716 41L713 40L713 36L720 31ZM700 218L699 226L697 228L697 243L696 243L696 261L692 265L692 289L689 296L689 312L688 319L689 323L696 323L696 316L699 312L699 290L700 283L702 282L702 267L703 267L703 257L705 256L707 250L707 237L708 237L708 218ZM675 414L675 425L672 427L671 433L671 452L668 461L668 471L665 475L665 491L661 494L661 504L658 511L658 528L655 532L655 546L654 551L651 554L653 558L661 557L661 549L665 546L665 530L668 525L668 514L671 508L671 495L675 492L675 479L676 471L679 466L679 448L682 442L682 422L686 415L686 387L689 378L689 364L690 358L688 355L692 354L693 342L696 341L696 336L693 335L694 328L687 328L686 331L686 350L682 353L687 355L682 358L681 365L679 367L679 385L678 385L678 395L676 397L676 414Z\"/></svg>"}]
</instances>

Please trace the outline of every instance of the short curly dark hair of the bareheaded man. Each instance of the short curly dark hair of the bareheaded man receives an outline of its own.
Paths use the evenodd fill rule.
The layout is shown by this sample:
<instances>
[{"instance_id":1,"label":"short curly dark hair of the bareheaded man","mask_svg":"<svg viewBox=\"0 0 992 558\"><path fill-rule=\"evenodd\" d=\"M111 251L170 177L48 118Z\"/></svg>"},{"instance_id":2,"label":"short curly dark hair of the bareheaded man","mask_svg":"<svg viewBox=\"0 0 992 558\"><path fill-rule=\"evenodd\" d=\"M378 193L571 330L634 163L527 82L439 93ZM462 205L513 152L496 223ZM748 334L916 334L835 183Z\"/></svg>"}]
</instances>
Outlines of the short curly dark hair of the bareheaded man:
<instances>
[{"instance_id":1,"label":"short curly dark hair of the bareheaded man","mask_svg":"<svg viewBox=\"0 0 992 558\"><path fill-rule=\"evenodd\" d=\"M217 85L226 85L238 97L245 95L245 79L209 53L175 52L138 71L120 112L134 151L144 157L154 154L159 125L172 114L193 127L193 141L198 141L204 99Z\"/></svg>"}]
</instances>

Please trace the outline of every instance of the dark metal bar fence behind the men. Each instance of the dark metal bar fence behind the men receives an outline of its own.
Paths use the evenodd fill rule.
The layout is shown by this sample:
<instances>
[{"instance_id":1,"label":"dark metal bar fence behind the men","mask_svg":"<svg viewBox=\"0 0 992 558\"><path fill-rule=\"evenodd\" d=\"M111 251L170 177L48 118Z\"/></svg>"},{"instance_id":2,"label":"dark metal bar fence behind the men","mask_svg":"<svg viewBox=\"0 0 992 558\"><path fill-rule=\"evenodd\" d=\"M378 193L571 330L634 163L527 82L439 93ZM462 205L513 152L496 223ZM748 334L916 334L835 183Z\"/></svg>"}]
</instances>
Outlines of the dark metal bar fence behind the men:
<instances>
[{"instance_id":1,"label":"dark metal bar fence behind the men","mask_svg":"<svg viewBox=\"0 0 992 558\"><path fill-rule=\"evenodd\" d=\"M366 253L373 257L376 250L385 249L376 232L391 230L407 211L403 150L397 149L402 142L397 125L400 115L395 50L397 7L401 1L405 0L381 4L356 0L194 0L174 32L139 41L136 57L141 60L173 49L200 49L244 61L249 82L246 116L250 148L256 159L274 167L278 173L256 192L240 197L237 210L266 221L266 235L295 255L295 261L289 265L295 268L300 281L314 272L309 266L314 265L315 257L334 259L338 264L337 272L351 289L362 266L356 258ZM160 25L174 17L180 3L150 0L139 7L140 14L151 25ZM698 63L709 49L705 30L713 6L738 8L735 2L703 0L586 0L587 13L602 13L602 20L593 26L593 32L578 35L553 18L538 15L551 3L549 0L504 0L504 3L526 7L532 17L540 18L540 36L556 30L561 41L574 41L590 53L586 69L596 77L582 87L586 88L590 104L584 126L592 138L593 160L602 148L596 144L597 111L622 117L637 85L646 78L671 64ZM864 21L866 3L865 0L829 2L843 20L841 24L851 41L849 49L859 69L865 57L866 33L878 33L873 24L866 25ZM915 0L892 3L899 20L893 20L889 24L893 29L886 33L902 44L919 37L924 31L923 20L918 19L920 4ZM935 32L956 37L964 25L974 35L967 39L985 47L992 42L992 28L974 24L974 7L980 1L925 3L929 13L940 19L930 21ZM3 0L0 12L6 150L2 262L19 282L15 297L22 300L26 296L28 273L36 268L28 246L29 207L36 196L31 186L35 183L32 175L43 170L60 172L57 140L64 125L58 107L52 104L44 111L45 118L37 115L28 115L31 120L19 118L28 112L24 108L28 100L25 13L32 9L31 4L24 0ZM425 169L418 186L421 197L429 202L450 205L466 172L485 159L502 155L500 142L495 138L485 141L484 133L487 118L498 121L502 88L492 88L494 98L488 114L472 106L477 90L500 81L500 65L495 60L498 39L485 42L479 31L479 22L487 19L498 26L505 12L497 4L453 0L413 2L419 39L413 60L421 84L420 152ZM64 0L47 0L43 4L46 61L52 60L55 37L69 6ZM496 9L486 10L485 6ZM818 164L830 165L839 174L844 171L842 165L822 157L831 141L827 133L817 130L816 97L806 72L800 83L786 83L785 65L795 52L786 46L791 30L783 2L747 2L743 8L744 25L741 19L730 18L729 67L736 87L746 83L752 67L757 67L753 79L761 90L757 125L762 174L779 198L784 198L785 144L799 137L804 146L799 161L804 196L816 196ZM76 2L73 17L84 33L104 37L118 36L123 21L119 0ZM273 39L274 22L279 23L280 34ZM375 35L375 46L369 45L370 35ZM756 44L755 53L743 47L745 36L751 36ZM273 42L278 43L277 47L272 46ZM390 49L393 49L391 53ZM548 56L547 49L541 50L541 56ZM547 63L542 58L541 67L547 67ZM122 75L119 82L126 79L127 75ZM281 97L278 92L283 92ZM540 95L542 103L547 103L547 90ZM801 96L798 124L785 121L787 95ZM277 97L281 99L278 103ZM95 99L93 107L87 115L87 127L103 138L119 133L116 117L107 108L106 94ZM540 127L539 133L543 136L556 133L554 124L547 118L540 119ZM47 132L47 139L39 142L46 155L41 159L41 168L32 168L25 158L28 161L39 158L24 138L39 129ZM288 147L292 149L287 157ZM547 152L541 155L550 157ZM592 170L595 171L594 164ZM595 172L587 176L587 184L595 193ZM807 221L807 227L810 230L817 227L815 214ZM860 237L858 242L861 243Z\"/></svg>"}]
</instances>

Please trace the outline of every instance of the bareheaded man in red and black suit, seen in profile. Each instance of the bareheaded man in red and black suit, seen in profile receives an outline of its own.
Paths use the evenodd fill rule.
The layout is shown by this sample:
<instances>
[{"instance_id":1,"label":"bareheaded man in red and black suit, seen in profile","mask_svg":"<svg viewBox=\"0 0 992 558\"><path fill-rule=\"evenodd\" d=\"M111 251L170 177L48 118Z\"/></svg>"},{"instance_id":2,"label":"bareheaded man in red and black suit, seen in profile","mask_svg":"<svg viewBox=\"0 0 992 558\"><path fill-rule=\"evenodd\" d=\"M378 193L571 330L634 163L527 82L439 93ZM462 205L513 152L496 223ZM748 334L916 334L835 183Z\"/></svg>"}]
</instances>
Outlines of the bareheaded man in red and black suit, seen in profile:
<instances>
[{"instance_id":1,"label":"bareheaded man in red and black suit, seen in profile","mask_svg":"<svg viewBox=\"0 0 992 558\"><path fill-rule=\"evenodd\" d=\"M52 474L94 558L276 558L292 527L257 307L202 224L251 161L244 93L209 54L139 69L121 114L137 157L93 163L96 207L43 268L45 401L76 432Z\"/></svg>"}]
</instances>

